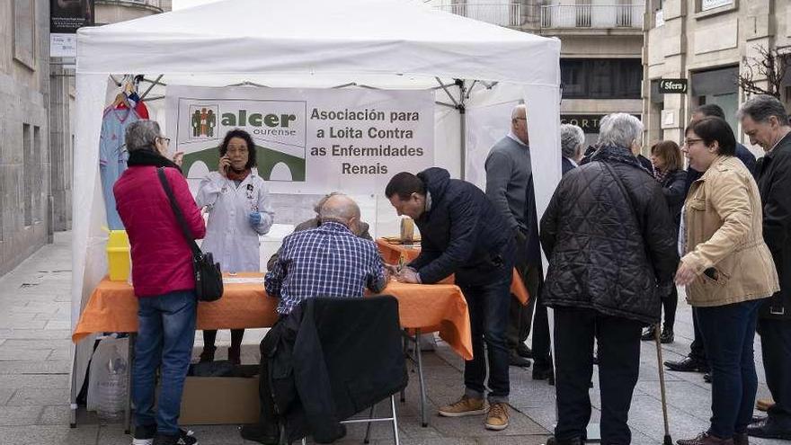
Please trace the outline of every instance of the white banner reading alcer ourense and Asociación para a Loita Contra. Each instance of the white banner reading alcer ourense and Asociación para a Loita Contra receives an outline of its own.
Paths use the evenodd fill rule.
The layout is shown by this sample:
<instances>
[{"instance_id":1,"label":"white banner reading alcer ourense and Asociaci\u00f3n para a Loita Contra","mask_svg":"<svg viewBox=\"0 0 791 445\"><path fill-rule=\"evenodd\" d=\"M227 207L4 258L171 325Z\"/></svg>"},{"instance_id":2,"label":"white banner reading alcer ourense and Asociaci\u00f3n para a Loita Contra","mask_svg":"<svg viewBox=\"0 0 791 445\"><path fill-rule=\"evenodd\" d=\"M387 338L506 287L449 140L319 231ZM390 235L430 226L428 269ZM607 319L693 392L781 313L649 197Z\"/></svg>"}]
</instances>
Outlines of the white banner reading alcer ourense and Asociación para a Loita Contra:
<instances>
[{"instance_id":1,"label":"white banner reading alcer ourense and Asociaci\u00f3n para a Loita Contra","mask_svg":"<svg viewBox=\"0 0 791 445\"><path fill-rule=\"evenodd\" d=\"M275 193L382 191L394 174L434 161L431 91L169 85L165 106L193 180L217 170L231 129L251 134Z\"/></svg>"}]
</instances>

